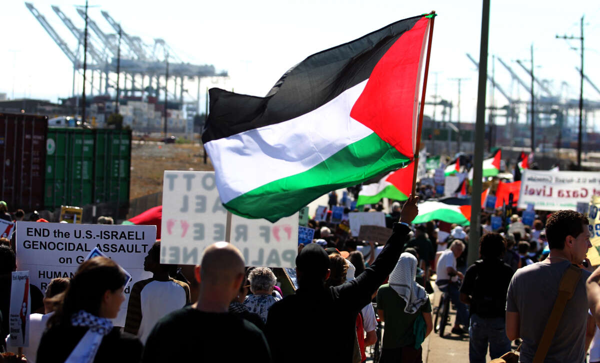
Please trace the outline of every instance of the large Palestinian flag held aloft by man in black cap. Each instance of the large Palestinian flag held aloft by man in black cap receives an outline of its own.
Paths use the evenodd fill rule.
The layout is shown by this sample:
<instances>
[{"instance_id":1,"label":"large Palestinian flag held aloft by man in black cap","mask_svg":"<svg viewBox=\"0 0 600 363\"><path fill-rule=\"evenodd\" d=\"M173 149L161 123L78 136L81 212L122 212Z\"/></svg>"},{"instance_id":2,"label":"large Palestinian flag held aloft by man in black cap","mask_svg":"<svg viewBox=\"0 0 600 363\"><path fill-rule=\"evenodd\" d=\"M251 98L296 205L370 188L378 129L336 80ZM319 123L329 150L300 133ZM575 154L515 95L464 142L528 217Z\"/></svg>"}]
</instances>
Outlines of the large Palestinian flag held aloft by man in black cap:
<instances>
[{"instance_id":1,"label":"large Palestinian flag held aloft by man in black cap","mask_svg":"<svg viewBox=\"0 0 600 363\"><path fill-rule=\"evenodd\" d=\"M414 158L431 19L309 56L265 97L211 89L202 141L224 207L274 222Z\"/></svg>"}]
</instances>

